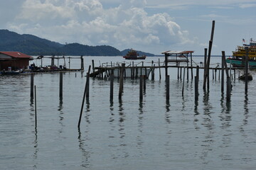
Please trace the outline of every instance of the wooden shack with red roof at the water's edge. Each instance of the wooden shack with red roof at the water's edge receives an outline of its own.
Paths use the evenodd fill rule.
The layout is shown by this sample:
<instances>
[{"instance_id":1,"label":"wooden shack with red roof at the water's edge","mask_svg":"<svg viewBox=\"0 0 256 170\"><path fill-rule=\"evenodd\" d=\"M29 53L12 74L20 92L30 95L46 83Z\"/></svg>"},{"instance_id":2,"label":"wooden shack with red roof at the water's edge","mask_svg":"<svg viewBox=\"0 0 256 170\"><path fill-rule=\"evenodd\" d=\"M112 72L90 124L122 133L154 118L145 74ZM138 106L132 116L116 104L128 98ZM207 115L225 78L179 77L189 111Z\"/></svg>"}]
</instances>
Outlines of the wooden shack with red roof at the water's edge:
<instances>
[{"instance_id":1,"label":"wooden shack with red roof at the water's edge","mask_svg":"<svg viewBox=\"0 0 256 170\"><path fill-rule=\"evenodd\" d=\"M0 52L0 70L25 69L33 57L21 52Z\"/></svg>"}]
</instances>

